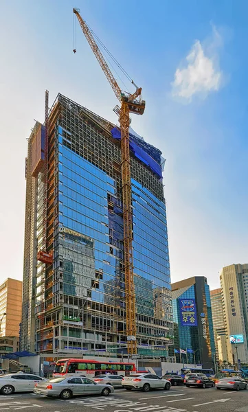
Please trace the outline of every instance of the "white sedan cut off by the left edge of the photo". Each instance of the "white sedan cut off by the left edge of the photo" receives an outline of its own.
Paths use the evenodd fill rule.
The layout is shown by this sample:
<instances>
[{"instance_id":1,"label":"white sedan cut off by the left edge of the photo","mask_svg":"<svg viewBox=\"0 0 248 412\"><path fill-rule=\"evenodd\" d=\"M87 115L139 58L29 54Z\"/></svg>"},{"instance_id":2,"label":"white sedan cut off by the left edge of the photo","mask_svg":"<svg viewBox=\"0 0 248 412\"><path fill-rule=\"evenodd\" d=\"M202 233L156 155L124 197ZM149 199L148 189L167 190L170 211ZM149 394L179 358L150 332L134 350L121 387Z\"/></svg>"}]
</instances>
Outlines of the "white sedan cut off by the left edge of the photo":
<instances>
[{"instance_id":1,"label":"white sedan cut off by the left edge of the photo","mask_svg":"<svg viewBox=\"0 0 248 412\"><path fill-rule=\"evenodd\" d=\"M14 392L31 392L35 384L41 380L41 376L32 374L8 374L0 376L0 392L3 395L11 395Z\"/></svg>"}]
</instances>

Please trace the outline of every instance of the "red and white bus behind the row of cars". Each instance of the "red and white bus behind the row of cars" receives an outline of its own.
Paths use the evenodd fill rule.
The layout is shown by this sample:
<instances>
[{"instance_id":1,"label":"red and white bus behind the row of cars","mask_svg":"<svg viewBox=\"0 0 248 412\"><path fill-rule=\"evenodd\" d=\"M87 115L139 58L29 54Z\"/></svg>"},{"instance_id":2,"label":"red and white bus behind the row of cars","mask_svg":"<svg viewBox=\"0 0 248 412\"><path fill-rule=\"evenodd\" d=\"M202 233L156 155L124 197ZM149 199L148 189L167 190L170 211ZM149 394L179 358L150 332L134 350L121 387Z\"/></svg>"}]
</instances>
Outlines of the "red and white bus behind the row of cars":
<instances>
[{"instance_id":1,"label":"red and white bus behind the row of cars","mask_svg":"<svg viewBox=\"0 0 248 412\"><path fill-rule=\"evenodd\" d=\"M91 359L60 359L56 362L53 376L86 376L102 374L129 375L135 372L135 363L93 361Z\"/></svg>"}]
</instances>

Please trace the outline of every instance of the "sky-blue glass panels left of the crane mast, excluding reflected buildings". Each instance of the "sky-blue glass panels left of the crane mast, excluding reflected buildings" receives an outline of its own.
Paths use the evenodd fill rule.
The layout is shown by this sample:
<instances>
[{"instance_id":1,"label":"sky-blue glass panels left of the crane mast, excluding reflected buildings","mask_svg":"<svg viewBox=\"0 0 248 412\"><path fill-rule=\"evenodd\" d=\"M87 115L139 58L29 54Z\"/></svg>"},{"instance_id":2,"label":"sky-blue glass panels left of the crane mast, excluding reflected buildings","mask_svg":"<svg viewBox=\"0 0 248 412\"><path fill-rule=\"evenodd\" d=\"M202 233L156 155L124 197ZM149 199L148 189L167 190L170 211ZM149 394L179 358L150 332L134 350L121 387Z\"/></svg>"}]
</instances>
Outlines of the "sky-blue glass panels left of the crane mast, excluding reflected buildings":
<instances>
[{"instance_id":1,"label":"sky-blue glass panels left of the crane mast, excluding reflected buildings","mask_svg":"<svg viewBox=\"0 0 248 412\"><path fill-rule=\"evenodd\" d=\"M93 244L93 275L95 271L102 273L99 279L98 290L91 291L91 299L104 302L104 284L111 282L115 277L115 256L109 253L109 217L108 193L114 194L113 179L99 168L95 167L79 155L63 146L62 128L58 128L58 199L59 199L59 225L71 229L89 238ZM58 249L58 254L64 250ZM88 262L91 267L91 261ZM89 279L86 271L86 262L78 268L77 283L80 277L84 282ZM88 267L89 272L89 267ZM63 282L66 293L67 283ZM88 288L91 288L91 283ZM75 296L81 296L76 293ZM87 296L87 290L83 295Z\"/></svg>"}]
</instances>

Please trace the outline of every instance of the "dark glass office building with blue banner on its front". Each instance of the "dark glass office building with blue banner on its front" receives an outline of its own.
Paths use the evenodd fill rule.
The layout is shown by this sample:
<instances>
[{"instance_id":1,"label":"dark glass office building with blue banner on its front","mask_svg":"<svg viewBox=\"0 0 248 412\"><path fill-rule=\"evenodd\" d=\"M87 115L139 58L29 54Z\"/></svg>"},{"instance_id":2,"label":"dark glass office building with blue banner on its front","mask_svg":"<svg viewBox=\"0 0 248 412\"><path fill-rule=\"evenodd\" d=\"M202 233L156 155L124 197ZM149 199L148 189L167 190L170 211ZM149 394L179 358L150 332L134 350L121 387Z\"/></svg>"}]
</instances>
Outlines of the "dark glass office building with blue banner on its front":
<instances>
[{"instance_id":1,"label":"dark glass office building with blue banner on its front","mask_svg":"<svg viewBox=\"0 0 248 412\"><path fill-rule=\"evenodd\" d=\"M183 361L213 367L215 347L210 287L203 276L172 284L174 347ZM179 361L179 355L177 355Z\"/></svg>"}]
</instances>

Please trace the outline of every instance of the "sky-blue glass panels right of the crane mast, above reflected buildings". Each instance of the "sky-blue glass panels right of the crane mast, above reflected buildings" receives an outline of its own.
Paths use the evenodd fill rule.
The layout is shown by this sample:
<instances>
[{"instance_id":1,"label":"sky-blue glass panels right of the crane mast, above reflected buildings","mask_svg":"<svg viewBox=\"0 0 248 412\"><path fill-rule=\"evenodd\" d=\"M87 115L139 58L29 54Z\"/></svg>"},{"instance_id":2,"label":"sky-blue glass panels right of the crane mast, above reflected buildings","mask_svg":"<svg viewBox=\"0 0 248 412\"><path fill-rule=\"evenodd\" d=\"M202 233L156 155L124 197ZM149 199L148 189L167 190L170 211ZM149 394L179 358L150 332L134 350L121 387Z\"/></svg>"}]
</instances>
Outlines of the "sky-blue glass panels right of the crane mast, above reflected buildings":
<instances>
[{"instance_id":1,"label":"sky-blue glass panels right of the crane mast, above reflected buildings","mask_svg":"<svg viewBox=\"0 0 248 412\"><path fill-rule=\"evenodd\" d=\"M132 179L135 273L170 289L166 205Z\"/></svg>"}]
</instances>

